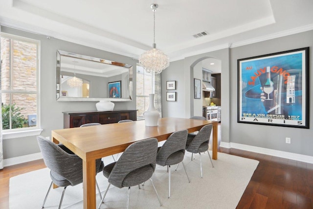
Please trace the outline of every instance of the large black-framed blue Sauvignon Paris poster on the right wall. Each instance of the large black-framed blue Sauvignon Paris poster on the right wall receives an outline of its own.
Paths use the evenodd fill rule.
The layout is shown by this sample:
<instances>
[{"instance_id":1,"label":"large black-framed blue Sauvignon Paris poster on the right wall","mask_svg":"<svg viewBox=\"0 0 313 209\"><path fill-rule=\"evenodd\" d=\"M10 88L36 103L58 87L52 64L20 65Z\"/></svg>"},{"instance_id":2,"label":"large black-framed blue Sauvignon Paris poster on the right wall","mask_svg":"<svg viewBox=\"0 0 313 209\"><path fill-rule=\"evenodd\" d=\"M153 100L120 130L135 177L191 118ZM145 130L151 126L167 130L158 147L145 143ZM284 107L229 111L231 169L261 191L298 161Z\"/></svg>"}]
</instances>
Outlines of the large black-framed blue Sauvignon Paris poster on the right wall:
<instances>
[{"instance_id":1,"label":"large black-framed blue Sauvignon Paris poster on the right wall","mask_svg":"<svg viewBox=\"0 0 313 209\"><path fill-rule=\"evenodd\" d=\"M237 64L239 123L309 128L309 47Z\"/></svg>"}]
</instances>

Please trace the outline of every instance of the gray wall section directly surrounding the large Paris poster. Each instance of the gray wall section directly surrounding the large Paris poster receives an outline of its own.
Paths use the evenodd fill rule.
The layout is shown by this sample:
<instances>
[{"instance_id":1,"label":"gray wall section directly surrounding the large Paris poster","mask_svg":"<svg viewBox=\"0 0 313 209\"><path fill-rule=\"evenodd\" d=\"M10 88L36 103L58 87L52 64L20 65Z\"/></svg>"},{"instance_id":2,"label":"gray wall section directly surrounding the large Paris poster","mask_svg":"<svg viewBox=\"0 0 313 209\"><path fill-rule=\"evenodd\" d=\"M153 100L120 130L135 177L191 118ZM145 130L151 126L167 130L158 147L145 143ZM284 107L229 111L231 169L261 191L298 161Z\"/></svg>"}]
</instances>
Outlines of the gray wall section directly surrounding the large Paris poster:
<instances>
[{"instance_id":1,"label":"gray wall section directly surrounding the large Paris poster","mask_svg":"<svg viewBox=\"0 0 313 209\"><path fill-rule=\"evenodd\" d=\"M312 37L313 31L308 31L230 50L230 77L232 78L230 83L230 102L234 104L230 110L231 142L313 156L313 123L311 119L313 114L313 86L310 82L309 92L311 99L310 107L308 107L311 110L309 116L310 129L237 123L237 59L310 46L310 69L308 71L311 76L310 81L312 81ZM286 137L291 138L291 144L285 143Z\"/></svg>"}]
</instances>

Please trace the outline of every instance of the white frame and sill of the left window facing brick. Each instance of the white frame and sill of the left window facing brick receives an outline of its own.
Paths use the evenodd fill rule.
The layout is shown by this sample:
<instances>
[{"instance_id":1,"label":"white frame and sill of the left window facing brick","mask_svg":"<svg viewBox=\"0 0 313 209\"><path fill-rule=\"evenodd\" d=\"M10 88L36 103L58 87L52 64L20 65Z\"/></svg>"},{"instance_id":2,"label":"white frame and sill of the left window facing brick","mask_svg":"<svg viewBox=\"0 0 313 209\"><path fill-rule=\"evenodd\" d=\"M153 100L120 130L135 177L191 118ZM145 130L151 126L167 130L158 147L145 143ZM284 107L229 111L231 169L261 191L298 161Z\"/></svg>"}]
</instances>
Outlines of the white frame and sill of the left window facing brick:
<instances>
[{"instance_id":1,"label":"white frame and sill of the left window facing brick","mask_svg":"<svg viewBox=\"0 0 313 209\"><path fill-rule=\"evenodd\" d=\"M40 41L39 40L34 40L34 39L29 39L21 36L16 36L12 34L7 34L0 32L0 37L2 38L7 38L7 39L13 39L17 41L22 41L22 42L28 42L32 44L36 44L36 91L19 91L19 90L1 90L0 93L32 93L36 94L36 100L37 100L37 123L36 126L34 127L26 127L26 128L15 128L15 129L6 129L2 130L2 136L3 139L13 139L13 138L19 138L19 137L27 137L27 136L36 136L40 135L43 129L41 129L41 116L40 116ZM10 53L12 53L12 50L10 48ZM11 58L12 59L12 56ZM10 60L10 73L12 73L12 60ZM10 84L12 84L12 76L10 76ZM12 85L10 85L10 88ZM10 100L11 100L10 96ZM2 121L1 121L2 122Z\"/></svg>"}]
</instances>

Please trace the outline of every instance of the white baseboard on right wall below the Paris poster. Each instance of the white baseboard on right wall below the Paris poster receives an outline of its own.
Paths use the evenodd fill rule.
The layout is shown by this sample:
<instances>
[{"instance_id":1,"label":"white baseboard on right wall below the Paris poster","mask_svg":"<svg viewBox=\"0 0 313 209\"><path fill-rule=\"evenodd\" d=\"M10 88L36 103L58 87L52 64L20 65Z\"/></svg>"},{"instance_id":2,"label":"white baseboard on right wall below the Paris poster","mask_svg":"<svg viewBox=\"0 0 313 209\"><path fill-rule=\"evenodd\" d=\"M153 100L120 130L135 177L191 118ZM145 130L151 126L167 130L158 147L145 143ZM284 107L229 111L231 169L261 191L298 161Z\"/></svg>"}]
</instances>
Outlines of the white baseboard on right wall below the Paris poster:
<instances>
[{"instance_id":1,"label":"white baseboard on right wall below the Paris poster","mask_svg":"<svg viewBox=\"0 0 313 209\"><path fill-rule=\"evenodd\" d=\"M312 156L300 155L296 153L284 152L284 151L267 149L267 148L256 147L256 146L250 146L246 144L239 144L239 143L233 143L233 142L228 143L228 142L221 141L220 147L241 149L241 150L246 150L250 152L256 152L260 154L271 155L275 157L286 158L286 159L291 159L291 160L305 162L305 163L313 163Z\"/></svg>"}]
</instances>

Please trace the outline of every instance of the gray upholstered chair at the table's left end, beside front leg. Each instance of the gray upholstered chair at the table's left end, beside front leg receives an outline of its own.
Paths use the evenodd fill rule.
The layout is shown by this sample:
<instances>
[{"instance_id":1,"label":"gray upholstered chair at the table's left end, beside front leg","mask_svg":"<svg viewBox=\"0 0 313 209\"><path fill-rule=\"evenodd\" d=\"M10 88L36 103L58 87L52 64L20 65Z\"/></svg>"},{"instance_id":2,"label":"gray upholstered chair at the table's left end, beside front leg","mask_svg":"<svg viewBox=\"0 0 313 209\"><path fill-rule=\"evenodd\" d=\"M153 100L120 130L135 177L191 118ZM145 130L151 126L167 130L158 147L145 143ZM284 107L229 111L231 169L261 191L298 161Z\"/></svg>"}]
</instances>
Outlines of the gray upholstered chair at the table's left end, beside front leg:
<instances>
[{"instance_id":1,"label":"gray upholstered chair at the table's left end, beside front leg","mask_svg":"<svg viewBox=\"0 0 313 209\"><path fill-rule=\"evenodd\" d=\"M42 209L45 207L45 201L53 183L57 186L64 187L59 204L59 209L61 209L67 186L75 186L83 182L83 161L63 144L55 144L52 141L45 139L43 136L37 136L37 141L43 155L45 165L51 170L50 178L52 180L45 196ZM96 160L96 173L102 171L103 167L104 164L101 159ZM102 198L97 182L96 186L100 198Z\"/></svg>"}]
</instances>

